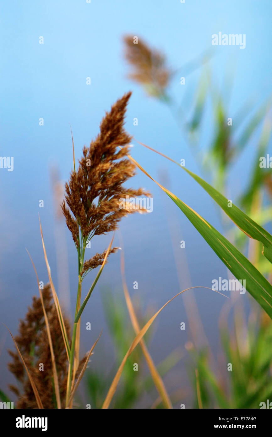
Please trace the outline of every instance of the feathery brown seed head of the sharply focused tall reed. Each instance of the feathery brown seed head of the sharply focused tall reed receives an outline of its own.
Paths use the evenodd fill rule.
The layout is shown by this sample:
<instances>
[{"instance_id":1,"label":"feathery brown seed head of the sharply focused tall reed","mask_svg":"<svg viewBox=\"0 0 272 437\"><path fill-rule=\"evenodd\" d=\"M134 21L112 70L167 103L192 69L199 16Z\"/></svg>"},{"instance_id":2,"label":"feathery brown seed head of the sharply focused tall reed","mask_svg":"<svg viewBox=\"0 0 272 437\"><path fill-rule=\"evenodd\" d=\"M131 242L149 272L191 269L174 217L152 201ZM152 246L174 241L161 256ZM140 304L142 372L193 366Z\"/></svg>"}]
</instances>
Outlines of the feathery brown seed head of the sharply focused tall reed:
<instances>
[{"instance_id":1,"label":"feathery brown seed head of the sharply focused tall reed","mask_svg":"<svg viewBox=\"0 0 272 437\"><path fill-rule=\"evenodd\" d=\"M81 239L86 241L94 235L114 231L122 217L136 211L121 208L121 198L150 196L141 188L134 190L123 185L135 174L134 164L125 158L131 142L131 136L124 130L124 115L130 96L131 93L124 94L111 111L106 112L99 135L89 148L84 146L79 167L65 184L62 211L77 247ZM98 255L87 261L92 268L100 265Z\"/></svg>"}]
</instances>

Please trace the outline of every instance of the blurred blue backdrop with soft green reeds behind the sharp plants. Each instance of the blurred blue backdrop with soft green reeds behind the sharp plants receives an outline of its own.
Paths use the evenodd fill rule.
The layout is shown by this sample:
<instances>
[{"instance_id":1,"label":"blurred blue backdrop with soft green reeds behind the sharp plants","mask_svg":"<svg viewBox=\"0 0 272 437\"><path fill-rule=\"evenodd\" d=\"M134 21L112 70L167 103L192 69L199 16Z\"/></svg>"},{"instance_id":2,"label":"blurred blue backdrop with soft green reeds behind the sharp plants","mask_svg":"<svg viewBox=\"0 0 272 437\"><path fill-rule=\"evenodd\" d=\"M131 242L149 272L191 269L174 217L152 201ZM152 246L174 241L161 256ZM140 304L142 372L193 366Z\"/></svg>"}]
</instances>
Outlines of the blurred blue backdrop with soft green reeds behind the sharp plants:
<instances>
[{"instance_id":1,"label":"blurred blue backdrop with soft green reeds behind the sharp plants","mask_svg":"<svg viewBox=\"0 0 272 437\"><path fill-rule=\"evenodd\" d=\"M178 162L184 159L189 170L212 183L252 217L256 214L257 221L271 232L270 173L267 172L265 179L258 175L259 157L265 156L260 153L271 151L269 0L14 1L3 4L0 15L0 155L14 157L12 172L0 169L0 321L12 333L17 332L18 320L24 318L31 297L38 295L25 248L34 260L40 281L48 282L38 214L62 307L68 316L74 313L77 253L58 209L64 181L73 166L70 125L78 159L83 145L88 146L98 134L105 111L128 90L133 91L125 125L135 139L131 155L152 177L248 255L251 248L247 241L231 228L230 221L222 218L208 194L178 166L145 149L136 140ZM220 31L245 34L246 47L211 45L212 35ZM126 35L137 36L139 41L165 55L165 66L171 75L163 98L151 95L150 88L128 79L132 67L124 55ZM41 37L43 44L40 44ZM181 84L181 77L185 78L185 84ZM87 78L90 85L86 84ZM227 126L228 118L232 118L232 126ZM214 278L227 278L228 272L157 185L139 171L131 185L144 187L153 194L153 211L123 219L114 246L124 250L127 287L143 324L148 315L181 289L191 285L211 287ZM103 251L110 238L93 239L86 252L90 251L92 257ZM180 248L182 240L184 249ZM268 267L258 256L254 258L255 265L269 276ZM83 295L93 278L90 275L83 282ZM138 289L133 288L134 281L138 282ZM224 332L231 335L235 325L236 333L243 331L246 337L248 316L255 311L255 305L247 294L232 293L235 296L231 296L226 311L231 314L233 307L238 309L237 323L234 323L235 314L231 315ZM226 382L229 361L222 350L219 329L226 299L201 288L193 295L194 298L180 296L163 310L148 334L148 348L155 364L162 363L165 386L173 394L175 408L181 403L186 408L199 406L196 368L203 378L204 406L217 407L220 390L228 399L231 396L231 383L228 387ZM250 318L254 341L258 340L255 334L260 329L269 329L269 333L265 331L262 335L265 350L267 338L271 339L271 327L258 309L255 313ZM239 326L242 314L245 325ZM87 322L91 323L90 331L84 329ZM185 330L180 329L182 322ZM111 255L83 312L82 355L102 328L103 334L80 390L78 405L83 408L86 403L91 403L92 408L100 406L101 393L107 393L114 370L117 371L134 338L124 300L120 254ZM250 345L255 343L252 339L247 343L245 337L238 336L242 343L240 349L238 345L238 361L246 356L251 362L256 357L252 357ZM245 344L249 346L243 355L241 347ZM10 361L7 348L12 347L7 329L0 325L0 388L8 395L7 385L14 383L7 369ZM124 374L115 407L148 408L154 405L158 395L150 387L145 361L137 355L131 359L132 364L141 363L139 375ZM262 372L269 372L270 363L270 356L265 357L265 364L260 364L262 369L266 366ZM255 364L249 368L258 373ZM241 366L245 387L248 386L245 375L249 375L246 369ZM209 400L213 395L205 392L205 378L210 378L217 400ZM253 378L252 373L248 378ZM253 395L250 393L253 400L245 408L254 407L258 401L254 393L256 390ZM10 396L13 399L14 395ZM231 405L241 407L231 399Z\"/></svg>"}]
</instances>

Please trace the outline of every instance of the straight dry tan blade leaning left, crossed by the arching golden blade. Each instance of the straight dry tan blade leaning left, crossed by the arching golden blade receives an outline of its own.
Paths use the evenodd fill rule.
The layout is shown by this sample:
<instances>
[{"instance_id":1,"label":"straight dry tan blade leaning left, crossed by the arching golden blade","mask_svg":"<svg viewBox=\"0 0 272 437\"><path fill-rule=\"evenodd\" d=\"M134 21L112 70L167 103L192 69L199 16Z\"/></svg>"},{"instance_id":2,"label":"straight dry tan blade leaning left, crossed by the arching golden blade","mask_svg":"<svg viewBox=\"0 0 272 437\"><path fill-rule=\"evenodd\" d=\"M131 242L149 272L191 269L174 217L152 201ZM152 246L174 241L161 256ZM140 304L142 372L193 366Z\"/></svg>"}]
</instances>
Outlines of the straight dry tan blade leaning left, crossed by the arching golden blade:
<instances>
[{"instance_id":1,"label":"straight dry tan blade leaning left, crossed by the arching golden blade","mask_svg":"<svg viewBox=\"0 0 272 437\"><path fill-rule=\"evenodd\" d=\"M127 289L127 284L126 284L126 280L125 280L125 268L124 268L124 252L121 252L121 274L122 274L122 282L123 282L123 289L124 289L124 296L126 299L126 303L127 303L127 309L129 312L129 316L131 318L131 323L133 326L133 329L135 331L135 334L138 334L140 332L140 326L137 320L137 316L135 314L132 302L131 302L131 297L129 295L128 289ZM151 355L148 352L148 348L145 344L144 340L140 340L140 346L142 348L143 354L145 356L149 371L151 373L151 377L154 381L155 387L158 390L158 394L160 395L161 399L162 399L162 403L164 405L165 408L173 408L171 400L169 398L169 395L166 391L165 385L162 381L161 376L159 375L155 364L151 358Z\"/></svg>"}]
</instances>

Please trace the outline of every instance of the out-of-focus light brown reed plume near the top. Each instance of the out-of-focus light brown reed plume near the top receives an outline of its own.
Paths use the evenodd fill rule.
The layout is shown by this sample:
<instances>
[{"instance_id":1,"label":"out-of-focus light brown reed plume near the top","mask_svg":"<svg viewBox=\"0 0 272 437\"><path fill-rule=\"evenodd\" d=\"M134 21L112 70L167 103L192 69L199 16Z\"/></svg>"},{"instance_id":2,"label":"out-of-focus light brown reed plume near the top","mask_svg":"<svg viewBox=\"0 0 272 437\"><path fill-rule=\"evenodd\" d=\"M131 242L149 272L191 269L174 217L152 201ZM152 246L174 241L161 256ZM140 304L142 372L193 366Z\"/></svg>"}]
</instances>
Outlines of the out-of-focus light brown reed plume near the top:
<instances>
[{"instance_id":1,"label":"out-of-focus light brown reed plume near the top","mask_svg":"<svg viewBox=\"0 0 272 437\"><path fill-rule=\"evenodd\" d=\"M134 69L129 78L144 85L148 94L158 97L167 87L171 74L164 56L141 40L135 43L132 35L125 36L124 43L125 57Z\"/></svg>"}]
</instances>

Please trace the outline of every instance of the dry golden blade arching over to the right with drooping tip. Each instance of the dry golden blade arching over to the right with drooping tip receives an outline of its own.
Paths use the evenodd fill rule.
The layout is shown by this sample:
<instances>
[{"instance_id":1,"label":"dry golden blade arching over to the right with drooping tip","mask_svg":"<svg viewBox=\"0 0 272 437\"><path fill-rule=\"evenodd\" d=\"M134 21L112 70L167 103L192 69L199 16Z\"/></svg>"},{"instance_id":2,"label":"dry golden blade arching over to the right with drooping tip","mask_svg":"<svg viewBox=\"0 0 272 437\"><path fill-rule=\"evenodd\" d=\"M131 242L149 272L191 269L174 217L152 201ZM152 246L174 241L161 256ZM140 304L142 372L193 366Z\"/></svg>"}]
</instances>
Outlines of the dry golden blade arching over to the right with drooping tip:
<instances>
[{"instance_id":1,"label":"dry golden blade arching over to the right with drooping tip","mask_svg":"<svg viewBox=\"0 0 272 437\"><path fill-rule=\"evenodd\" d=\"M182 293L184 293L184 291L187 290L191 290L192 288L207 288L208 290L212 290L212 288L210 287L203 287L201 285L197 285L195 287L189 287L186 288L185 290L180 291L177 295L175 295L172 299L170 299L168 302L166 302L161 309L159 309L154 316L151 317L151 319L148 320L148 322L145 324L145 326L141 329L141 331L136 335L136 337L134 338L133 342L131 343L130 348L128 349L127 353L125 354L123 361L121 362L121 365L117 371L117 374L114 377L113 382L111 383L110 389L107 393L106 399L103 403L102 408L103 409L107 409L110 405L111 399L114 396L114 393L116 391L119 379L121 378L121 374L122 371L124 369L124 365L126 364L127 361L127 357L129 357L129 355L131 354L131 352L135 349L135 347L137 346L137 344L140 342L140 340L142 339L142 337L145 335L145 333L148 331L149 327L151 326L151 324L154 322L155 318L158 316L158 314L165 308L166 305L168 305L170 302L172 302L173 299L175 299L177 296L181 295ZM219 293L220 295L224 296L225 298L228 299L227 296L223 295L222 293L220 293L220 291L214 290L216 293Z\"/></svg>"}]
</instances>

